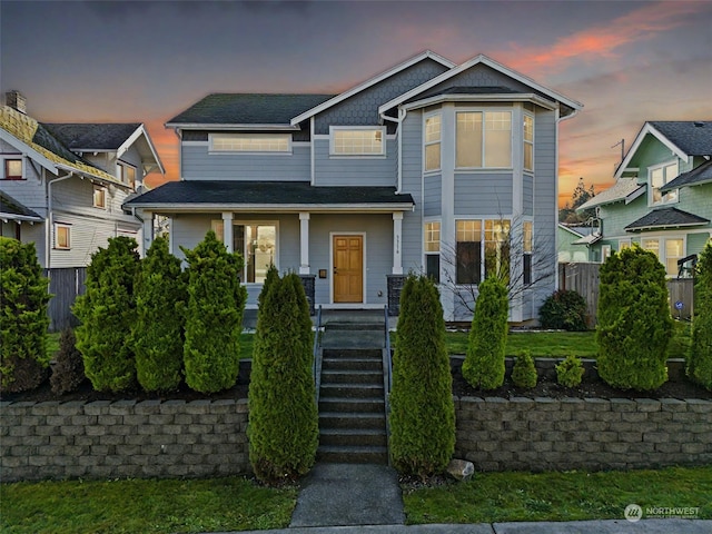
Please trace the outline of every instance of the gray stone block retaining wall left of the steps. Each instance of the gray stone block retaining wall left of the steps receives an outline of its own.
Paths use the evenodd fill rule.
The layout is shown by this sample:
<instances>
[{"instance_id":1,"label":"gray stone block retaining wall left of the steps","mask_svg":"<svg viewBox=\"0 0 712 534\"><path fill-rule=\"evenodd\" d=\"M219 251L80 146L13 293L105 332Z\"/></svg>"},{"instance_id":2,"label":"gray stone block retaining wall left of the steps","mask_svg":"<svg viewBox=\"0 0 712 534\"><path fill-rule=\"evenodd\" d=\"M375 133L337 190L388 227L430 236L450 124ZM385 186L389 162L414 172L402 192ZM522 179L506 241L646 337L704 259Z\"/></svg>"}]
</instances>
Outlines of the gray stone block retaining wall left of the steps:
<instances>
[{"instance_id":1,"label":"gray stone block retaining wall left of the steps","mask_svg":"<svg viewBox=\"0 0 712 534\"><path fill-rule=\"evenodd\" d=\"M2 482L250 472L247 399L0 403Z\"/></svg>"}]
</instances>

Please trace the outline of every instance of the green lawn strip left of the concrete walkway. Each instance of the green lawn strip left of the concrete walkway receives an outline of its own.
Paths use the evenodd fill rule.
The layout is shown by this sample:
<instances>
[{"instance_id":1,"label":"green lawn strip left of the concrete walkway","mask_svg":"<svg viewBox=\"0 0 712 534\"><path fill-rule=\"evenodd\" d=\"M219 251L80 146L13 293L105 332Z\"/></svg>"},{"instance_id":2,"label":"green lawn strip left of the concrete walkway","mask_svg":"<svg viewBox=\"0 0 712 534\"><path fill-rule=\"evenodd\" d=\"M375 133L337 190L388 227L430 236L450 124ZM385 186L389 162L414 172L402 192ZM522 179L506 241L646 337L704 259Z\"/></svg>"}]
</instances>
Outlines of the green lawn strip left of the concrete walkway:
<instances>
[{"instance_id":1,"label":"green lawn strip left of the concrete walkway","mask_svg":"<svg viewBox=\"0 0 712 534\"><path fill-rule=\"evenodd\" d=\"M296 488L239 478L40 482L0 485L0 532L105 534L285 528Z\"/></svg>"}]
</instances>

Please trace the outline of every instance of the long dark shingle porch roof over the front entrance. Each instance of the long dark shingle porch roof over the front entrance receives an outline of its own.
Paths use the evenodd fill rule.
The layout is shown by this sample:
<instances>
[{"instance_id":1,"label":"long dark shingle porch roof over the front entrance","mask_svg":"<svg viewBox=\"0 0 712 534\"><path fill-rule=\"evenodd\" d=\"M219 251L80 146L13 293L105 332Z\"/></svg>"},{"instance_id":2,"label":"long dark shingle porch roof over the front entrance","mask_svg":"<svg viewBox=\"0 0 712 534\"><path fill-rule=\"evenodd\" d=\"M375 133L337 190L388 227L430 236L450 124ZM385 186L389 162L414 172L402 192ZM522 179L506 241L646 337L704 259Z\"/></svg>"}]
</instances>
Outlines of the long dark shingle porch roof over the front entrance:
<instances>
[{"instance_id":1,"label":"long dark shingle porch roof over the front entrance","mask_svg":"<svg viewBox=\"0 0 712 534\"><path fill-rule=\"evenodd\" d=\"M169 181L147 191L126 206L233 205L245 206L413 206L411 195L396 195L394 187L313 187L308 181Z\"/></svg>"}]
</instances>

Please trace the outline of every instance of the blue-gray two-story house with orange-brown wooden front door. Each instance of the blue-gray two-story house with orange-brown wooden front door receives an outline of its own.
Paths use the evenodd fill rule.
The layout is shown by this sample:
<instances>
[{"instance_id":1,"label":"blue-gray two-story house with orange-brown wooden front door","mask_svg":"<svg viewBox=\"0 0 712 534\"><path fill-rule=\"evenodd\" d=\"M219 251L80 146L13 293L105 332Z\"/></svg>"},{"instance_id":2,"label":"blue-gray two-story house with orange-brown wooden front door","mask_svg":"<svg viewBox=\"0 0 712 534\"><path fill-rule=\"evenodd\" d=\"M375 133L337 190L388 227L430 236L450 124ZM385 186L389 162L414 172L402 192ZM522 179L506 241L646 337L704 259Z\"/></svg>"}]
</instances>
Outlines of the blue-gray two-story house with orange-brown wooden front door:
<instances>
[{"instance_id":1,"label":"blue-gray two-story house with orange-brown wooden front door","mask_svg":"<svg viewBox=\"0 0 712 534\"><path fill-rule=\"evenodd\" d=\"M446 280L467 294L511 254L511 318L528 320L556 287L558 122L580 108L431 51L339 95L209 95L166 125L180 181L126 206L170 217L179 257L216 230L246 258L251 308L271 263L333 308L397 305L404 275L427 273L459 319Z\"/></svg>"}]
</instances>

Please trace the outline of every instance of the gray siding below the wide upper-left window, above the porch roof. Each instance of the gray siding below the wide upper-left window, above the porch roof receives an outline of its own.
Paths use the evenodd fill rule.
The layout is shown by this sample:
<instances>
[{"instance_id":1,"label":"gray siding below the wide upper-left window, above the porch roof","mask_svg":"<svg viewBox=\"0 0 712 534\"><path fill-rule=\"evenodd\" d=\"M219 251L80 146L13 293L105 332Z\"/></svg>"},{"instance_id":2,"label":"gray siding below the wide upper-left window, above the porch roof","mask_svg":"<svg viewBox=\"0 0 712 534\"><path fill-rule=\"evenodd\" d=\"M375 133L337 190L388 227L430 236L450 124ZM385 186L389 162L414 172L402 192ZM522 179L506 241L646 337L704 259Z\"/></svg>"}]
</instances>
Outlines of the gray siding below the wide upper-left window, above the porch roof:
<instances>
[{"instance_id":1,"label":"gray siding below the wide upper-left window, above the porch roof","mask_svg":"<svg viewBox=\"0 0 712 534\"><path fill-rule=\"evenodd\" d=\"M180 157L186 180L312 180L308 146L295 146L290 155L208 154L206 141L182 145Z\"/></svg>"}]
</instances>

